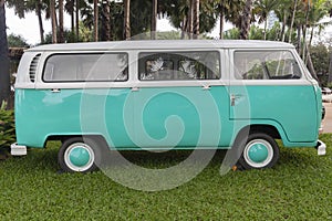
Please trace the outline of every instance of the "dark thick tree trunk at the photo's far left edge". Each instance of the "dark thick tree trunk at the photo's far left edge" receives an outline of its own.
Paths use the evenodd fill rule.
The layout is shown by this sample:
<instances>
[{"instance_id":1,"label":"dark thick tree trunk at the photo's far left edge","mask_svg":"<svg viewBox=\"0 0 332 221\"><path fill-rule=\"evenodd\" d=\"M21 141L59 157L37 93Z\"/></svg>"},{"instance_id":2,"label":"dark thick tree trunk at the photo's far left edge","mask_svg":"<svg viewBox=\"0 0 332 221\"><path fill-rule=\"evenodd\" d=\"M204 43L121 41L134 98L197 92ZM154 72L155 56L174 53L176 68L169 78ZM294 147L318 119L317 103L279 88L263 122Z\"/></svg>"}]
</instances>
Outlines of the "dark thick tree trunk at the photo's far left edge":
<instances>
[{"instance_id":1,"label":"dark thick tree trunk at the photo's far left edge","mask_svg":"<svg viewBox=\"0 0 332 221\"><path fill-rule=\"evenodd\" d=\"M10 94L10 73L6 29L4 0L0 0L0 106L2 102L9 101Z\"/></svg>"}]
</instances>

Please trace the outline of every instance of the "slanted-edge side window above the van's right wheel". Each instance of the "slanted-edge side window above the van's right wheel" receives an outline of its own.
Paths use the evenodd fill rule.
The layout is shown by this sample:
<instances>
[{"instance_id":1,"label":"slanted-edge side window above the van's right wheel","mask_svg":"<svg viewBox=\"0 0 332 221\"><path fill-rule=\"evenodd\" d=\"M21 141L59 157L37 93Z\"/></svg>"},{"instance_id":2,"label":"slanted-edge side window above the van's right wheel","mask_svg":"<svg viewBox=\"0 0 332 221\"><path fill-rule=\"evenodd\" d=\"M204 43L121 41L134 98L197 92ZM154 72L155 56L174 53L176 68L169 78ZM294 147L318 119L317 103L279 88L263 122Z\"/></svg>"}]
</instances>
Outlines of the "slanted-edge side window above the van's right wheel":
<instances>
[{"instance_id":1,"label":"slanted-edge side window above the van's right wheel","mask_svg":"<svg viewBox=\"0 0 332 221\"><path fill-rule=\"evenodd\" d=\"M294 80L302 74L289 51L237 51L235 76L238 80Z\"/></svg>"}]
</instances>

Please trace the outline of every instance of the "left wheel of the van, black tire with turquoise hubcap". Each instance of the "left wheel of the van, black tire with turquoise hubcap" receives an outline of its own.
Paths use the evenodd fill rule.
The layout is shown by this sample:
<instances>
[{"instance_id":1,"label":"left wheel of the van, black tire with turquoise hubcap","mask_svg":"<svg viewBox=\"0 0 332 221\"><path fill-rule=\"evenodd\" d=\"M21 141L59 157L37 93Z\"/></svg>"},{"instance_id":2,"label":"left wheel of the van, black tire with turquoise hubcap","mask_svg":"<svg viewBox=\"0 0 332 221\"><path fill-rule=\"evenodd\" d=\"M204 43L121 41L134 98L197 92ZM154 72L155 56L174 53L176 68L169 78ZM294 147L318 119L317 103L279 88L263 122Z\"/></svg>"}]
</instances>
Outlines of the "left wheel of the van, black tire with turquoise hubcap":
<instances>
[{"instance_id":1,"label":"left wheel of the van, black tire with turquoise hubcap","mask_svg":"<svg viewBox=\"0 0 332 221\"><path fill-rule=\"evenodd\" d=\"M58 162L66 172L95 171L102 164L103 149L103 143L97 138L72 137L63 141Z\"/></svg>"}]
</instances>

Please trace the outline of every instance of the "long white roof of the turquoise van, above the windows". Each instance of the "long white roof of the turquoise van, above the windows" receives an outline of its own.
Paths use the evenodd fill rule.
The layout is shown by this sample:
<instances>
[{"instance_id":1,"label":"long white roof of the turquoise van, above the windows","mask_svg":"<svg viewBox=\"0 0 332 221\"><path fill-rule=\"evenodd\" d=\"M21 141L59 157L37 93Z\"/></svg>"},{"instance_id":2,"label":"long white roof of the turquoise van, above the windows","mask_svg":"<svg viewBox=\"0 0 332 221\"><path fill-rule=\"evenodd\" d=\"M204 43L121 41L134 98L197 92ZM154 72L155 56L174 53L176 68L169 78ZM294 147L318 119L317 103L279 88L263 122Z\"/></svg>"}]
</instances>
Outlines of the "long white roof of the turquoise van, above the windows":
<instances>
[{"instance_id":1,"label":"long white roof of the turquoise van, above the windows","mask_svg":"<svg viewBox=\"0 0 332 221\"><path fill-rule=\"evenodd\" d=\"M108 51L108 50L166 50L166 49L293 49L294 46L277 41L255 40L144 40L45 44L29 49L41 51Z\"/></svg>"}]
</instances>

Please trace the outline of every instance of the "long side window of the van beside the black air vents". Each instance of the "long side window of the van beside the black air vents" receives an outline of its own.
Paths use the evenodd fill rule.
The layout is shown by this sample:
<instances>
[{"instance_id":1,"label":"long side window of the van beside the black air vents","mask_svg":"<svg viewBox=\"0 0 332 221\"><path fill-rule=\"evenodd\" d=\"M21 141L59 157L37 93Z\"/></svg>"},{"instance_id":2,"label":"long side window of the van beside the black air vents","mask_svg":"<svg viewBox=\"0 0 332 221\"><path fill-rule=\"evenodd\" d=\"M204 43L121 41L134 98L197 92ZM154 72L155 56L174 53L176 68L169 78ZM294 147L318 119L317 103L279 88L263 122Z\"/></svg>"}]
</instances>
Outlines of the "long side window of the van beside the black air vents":
<instances>
[{"instance_id":1,"label":"long side window of the van beside the black air vents","mask_svg":"<svg viewBox=\"0 0 332 221\"><path fill-rule=\"evenodd\" d=\"M86 53L51 55L43 70L45 82L127 81L125 53Z\"/></svg>"}]
</instances>

